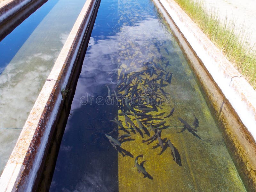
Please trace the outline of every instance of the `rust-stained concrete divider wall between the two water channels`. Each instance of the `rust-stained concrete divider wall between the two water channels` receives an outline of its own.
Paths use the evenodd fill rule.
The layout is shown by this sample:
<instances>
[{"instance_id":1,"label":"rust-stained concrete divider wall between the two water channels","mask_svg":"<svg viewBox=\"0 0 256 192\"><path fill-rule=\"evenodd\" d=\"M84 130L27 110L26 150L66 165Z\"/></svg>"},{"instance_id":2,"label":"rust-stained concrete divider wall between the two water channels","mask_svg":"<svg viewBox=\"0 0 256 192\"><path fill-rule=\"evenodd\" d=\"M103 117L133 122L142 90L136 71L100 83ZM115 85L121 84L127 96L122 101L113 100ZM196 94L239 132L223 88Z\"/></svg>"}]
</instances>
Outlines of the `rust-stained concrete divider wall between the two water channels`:
<instances>
[{"instance_id":1,"label":"rust-stained concrete divider wall between the two water channels","mask_svg":"<svg viewBox=\"0 0 256 192\"><path fill-rule=\"evenodd\" d=\"M96 2L85 2L5 165L0 178L1 191L32 191L53 124L63 104L61 90L68 88Z\"/></svg>"}]
</instances>

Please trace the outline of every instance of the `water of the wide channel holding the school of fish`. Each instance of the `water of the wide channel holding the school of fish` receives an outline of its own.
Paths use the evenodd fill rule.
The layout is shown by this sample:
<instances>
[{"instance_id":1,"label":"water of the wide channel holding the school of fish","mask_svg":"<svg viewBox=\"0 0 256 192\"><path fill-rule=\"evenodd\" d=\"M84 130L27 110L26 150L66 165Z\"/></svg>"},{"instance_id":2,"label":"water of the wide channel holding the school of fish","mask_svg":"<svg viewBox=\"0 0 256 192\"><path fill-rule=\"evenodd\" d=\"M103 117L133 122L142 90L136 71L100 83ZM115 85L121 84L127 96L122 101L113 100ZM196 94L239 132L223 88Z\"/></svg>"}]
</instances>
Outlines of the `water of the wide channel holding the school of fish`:
<instances>
[{"instance_id":1,"label":"water of the wide channel holding the school of fish","mask_svg":"<svg viewBox=\"0 0 256 192\"><path fill-rule=\"evenodd\" d=\"M158 77L163 78L151 81ZM127 126L121 109L142 113L138 95L133 104L125 103L124 96L111 104L112 98L116 101L113 90L118 96L126 91L128 100L139 93L143 108L158 112L144 118L138 114L141 129L135 117L127 115L136 128L129 122ZM156 97L159 102L151 103ZM172 116L164 118L172 108ZM199 127L193 125L195 116ZM124 129L111 122L115 117ZM152 118L153 126L166 121L159 126L163 148L157 139L142 142L155 134ZM189 124L183 132L186 123L179 118ZM114 128L118 132L109 133ZM120 147L105 136L116 139L126 132L131 137L119 139ZM147 174L134 167L141 154L138 163ZM195 75L148 0L101 1L52 178L50 191L60 190L245 191Z\"/></svg>"}]
</instances>

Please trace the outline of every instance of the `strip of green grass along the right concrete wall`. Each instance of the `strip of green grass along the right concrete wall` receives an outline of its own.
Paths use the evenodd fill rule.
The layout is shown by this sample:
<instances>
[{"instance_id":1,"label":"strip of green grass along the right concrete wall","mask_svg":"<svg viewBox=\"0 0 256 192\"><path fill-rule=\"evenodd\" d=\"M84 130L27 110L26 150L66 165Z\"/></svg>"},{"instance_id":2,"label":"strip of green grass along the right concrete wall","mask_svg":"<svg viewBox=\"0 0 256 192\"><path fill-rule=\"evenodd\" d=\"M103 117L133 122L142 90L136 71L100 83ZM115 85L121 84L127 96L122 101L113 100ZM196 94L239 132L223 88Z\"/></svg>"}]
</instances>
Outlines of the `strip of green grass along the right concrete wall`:
<instances>
[{"instance_id":1,"label":"strip of green grass along the right concrete wall","mask_svg":"<svg viewBox=\"0 0 256 192\"><path fill-rule=\"evenodd\" d=\"M206 11L202 3L175 1L256 90L256 51L246 43L248 38L244 36L244 29L235 34L235 22L228 22L227 19L221 22L217 13Z\"/></svg>"}]
</instances>

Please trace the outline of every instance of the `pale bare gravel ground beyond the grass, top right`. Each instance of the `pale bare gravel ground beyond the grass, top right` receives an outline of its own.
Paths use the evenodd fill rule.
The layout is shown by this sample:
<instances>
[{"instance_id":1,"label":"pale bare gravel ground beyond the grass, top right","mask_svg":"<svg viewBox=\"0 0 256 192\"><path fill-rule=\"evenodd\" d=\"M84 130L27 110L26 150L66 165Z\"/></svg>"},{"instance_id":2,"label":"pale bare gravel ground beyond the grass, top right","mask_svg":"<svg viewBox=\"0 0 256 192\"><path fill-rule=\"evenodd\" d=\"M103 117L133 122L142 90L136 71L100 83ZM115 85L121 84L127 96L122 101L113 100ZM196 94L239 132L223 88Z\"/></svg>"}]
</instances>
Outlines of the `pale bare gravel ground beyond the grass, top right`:
<instances>
[{"instance_id":1,"label":"pale bare gravel ground beyond the grass, top right","mask_svg":"<svg viewBox=\"0 0 256 192\"><path fill-rule=\"evenodd\" d=\"M221 20L236 23L236 33L242 28L248 36L247 43L256 50L256 1L255 0L197 0L204 2L209 11L216 11Z\"/></svg>"}]
</instances>

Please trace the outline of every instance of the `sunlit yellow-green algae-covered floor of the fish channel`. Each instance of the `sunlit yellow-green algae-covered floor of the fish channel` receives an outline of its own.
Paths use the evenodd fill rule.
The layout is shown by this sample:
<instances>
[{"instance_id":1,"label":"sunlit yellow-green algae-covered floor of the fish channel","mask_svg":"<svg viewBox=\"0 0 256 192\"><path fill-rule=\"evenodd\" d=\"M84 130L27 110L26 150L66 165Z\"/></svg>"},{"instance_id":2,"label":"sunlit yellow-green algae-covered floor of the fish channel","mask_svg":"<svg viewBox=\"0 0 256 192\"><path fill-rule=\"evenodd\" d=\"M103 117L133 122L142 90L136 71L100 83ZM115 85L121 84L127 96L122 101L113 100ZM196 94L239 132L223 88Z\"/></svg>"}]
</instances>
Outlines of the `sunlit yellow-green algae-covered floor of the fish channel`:
<instances>
[{"instance_id":1,"label":"sunlit yellow-green algae-covered floor of the fish channel","mask_svg":"<svg viewBox=\"0 0 256 192\"><path fill-rule=\"evenodd\" d=\"M172 83L163 88L165 92L171 93L171 105L163 103L163 109L158 113L148 114L154 116L165 112L166 116L172 107L175 107L173 116L164 119L165 125L170 126L162 130L162 139L170 139L177 148L182 166L173 160L169 147L159 155L162 148L152 148L157 145L157 140L147 145L142 143L140 134L131 132L131 138L134 140L123 142L122 148L129 151L134 158L118 154L119 191L245 191L195 77L184 56L180 52L178 54L181 62L173 63L167 68L170 72L175 71ZM124 64L122 66L125 67ZM199 120L197 134L203 140L196 138L187 130L178 133L183 127L178 117L192 125L194 115ZM119 120L125 121L123 116L119 116ZM154 121L158 122L161 121ZM134 123L139 127L135 120ZM153 132L149 128L148 130L152 135ZM123 134L123 131L119 130L119 133ZM147 139L148 136L144 134L144 138ZM144 157L139 158L138 162L145 161L144 167L153 177L152 180L144 178L144 175L134 167L134 159L140 154Z\"/></svg>"}]
</instances>

